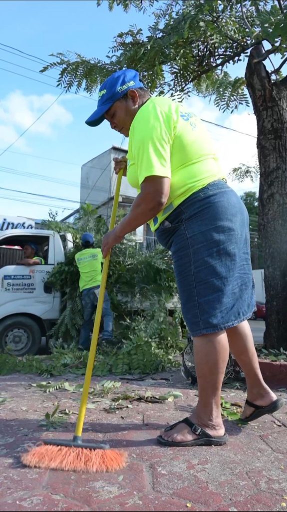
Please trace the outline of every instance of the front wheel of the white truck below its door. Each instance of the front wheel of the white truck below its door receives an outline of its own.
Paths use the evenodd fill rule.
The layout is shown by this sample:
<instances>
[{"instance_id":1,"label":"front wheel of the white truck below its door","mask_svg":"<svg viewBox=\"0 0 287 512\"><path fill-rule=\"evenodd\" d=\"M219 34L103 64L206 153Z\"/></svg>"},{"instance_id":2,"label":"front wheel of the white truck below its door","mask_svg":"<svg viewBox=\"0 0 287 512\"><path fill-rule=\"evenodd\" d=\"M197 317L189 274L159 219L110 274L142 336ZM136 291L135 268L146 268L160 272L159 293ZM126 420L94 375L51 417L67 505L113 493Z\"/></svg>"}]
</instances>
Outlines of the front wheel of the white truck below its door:
<instances>
[{"instance_id":1,"label":"front wheel of the white truck below its door","mask_svg":"<svg viewBox=\"0 0 287 512\"><path fill-rule=\"evenodd\" d=\"M15 315L0 322L0 350L16 356L36 354L41 345L41 331L36 322Z\"/></svg>"}]
</instances>

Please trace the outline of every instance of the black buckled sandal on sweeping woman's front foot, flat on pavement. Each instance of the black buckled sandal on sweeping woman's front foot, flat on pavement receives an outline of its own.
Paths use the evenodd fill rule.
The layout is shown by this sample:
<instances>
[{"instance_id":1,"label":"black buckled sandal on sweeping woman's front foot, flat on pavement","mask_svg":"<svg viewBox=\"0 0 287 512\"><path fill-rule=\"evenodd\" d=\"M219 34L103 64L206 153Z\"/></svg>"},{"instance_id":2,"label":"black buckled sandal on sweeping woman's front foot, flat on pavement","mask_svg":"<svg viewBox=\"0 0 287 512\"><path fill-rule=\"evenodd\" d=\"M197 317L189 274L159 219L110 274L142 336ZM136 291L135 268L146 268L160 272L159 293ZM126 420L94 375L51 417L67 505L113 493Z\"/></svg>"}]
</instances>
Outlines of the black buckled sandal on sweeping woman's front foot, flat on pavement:
<instances>
[{"instance_id":1,"label":"black buckled sandal on sweeping woman's front foot, flat on pavement","mask_svg":"<svg viewBox=\"0 0 287 512\"><path fill-rule=\"evenodd\" d=\"M198 439L193 439L192 441L167 441L162 436L157 436L157 442L159 444L164 444L164 446L222 446L228 439L227 434L219 437L211 436L208 432L201 429L200 426L193 423L193 421L190 421L189 418L184 418L181 421L177 421L176 423L167 426L166 429L164 429L164 432L173 430L175 426L180 423L185 423L185 425L189 426L189 429L198 436Z\"/></svg>"}]
</instances>

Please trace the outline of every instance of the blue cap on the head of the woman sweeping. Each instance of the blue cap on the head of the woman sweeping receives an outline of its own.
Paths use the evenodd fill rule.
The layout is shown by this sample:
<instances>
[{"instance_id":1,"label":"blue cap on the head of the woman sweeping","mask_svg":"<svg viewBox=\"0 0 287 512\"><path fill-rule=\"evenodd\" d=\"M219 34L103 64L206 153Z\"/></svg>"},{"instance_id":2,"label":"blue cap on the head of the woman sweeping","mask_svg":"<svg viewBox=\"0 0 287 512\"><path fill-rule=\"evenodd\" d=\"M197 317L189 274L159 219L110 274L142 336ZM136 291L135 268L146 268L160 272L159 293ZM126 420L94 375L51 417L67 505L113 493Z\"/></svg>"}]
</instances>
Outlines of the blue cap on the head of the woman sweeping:
<instances>
[{"instance_id":1,"label":"blue cap on the head of the woman sweeping","mask_svg":"<svg viewBox=\"0 0 287 512\"><path fill-rule=\"evenodd\" d=\"M86 120L88 126L99 126L105 113L115 101L121 99L130 89L145 87L139 79L139 74L134 69L122 69L116 71L102 83L99 90L97 110Z\"/></svg>"}]
</instances>

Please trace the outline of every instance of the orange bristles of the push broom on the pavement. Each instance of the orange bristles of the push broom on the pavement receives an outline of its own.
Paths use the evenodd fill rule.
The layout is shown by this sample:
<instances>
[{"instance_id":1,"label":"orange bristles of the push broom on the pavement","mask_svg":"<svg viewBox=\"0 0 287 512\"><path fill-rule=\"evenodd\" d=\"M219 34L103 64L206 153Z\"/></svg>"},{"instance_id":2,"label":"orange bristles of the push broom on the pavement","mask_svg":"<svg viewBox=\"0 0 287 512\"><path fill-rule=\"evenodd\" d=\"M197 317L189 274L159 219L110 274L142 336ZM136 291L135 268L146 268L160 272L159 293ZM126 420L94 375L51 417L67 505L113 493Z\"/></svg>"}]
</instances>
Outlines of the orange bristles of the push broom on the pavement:
<instances>
[{"instance_id":1,"label":"orange bristles of the push broom on the pavement","mask_svg":"<svg viewBox=\"0 0 287 512\"><path fill-rule=\"evenodd\" d=\"M50 470L107 473L127 464L127 453L118 450L91 450L82 447L41 444L21 455L26 466Z\"/></svg>"}]
</instances>

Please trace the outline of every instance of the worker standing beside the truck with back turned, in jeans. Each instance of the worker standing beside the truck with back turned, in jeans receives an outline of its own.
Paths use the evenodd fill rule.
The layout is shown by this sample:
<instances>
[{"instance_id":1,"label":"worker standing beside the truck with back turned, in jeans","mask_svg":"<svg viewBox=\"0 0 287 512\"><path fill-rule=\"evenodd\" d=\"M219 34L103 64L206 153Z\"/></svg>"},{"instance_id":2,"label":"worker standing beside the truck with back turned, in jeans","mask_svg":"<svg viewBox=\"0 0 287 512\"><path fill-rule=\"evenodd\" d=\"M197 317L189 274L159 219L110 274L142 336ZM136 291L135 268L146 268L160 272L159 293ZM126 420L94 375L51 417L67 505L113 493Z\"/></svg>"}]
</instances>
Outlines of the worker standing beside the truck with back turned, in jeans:
<instances>
[{"instance_id":1,"label":"worker standing beside the truck with back turned, in jeans","mask_svg":"<svg viewBox=\"0 0 287 512\"><path fill-rule=\"evenodd\" d=\"M91 233L84 233L82 235L81 244L82 250L75 255L80 271L79 286L84 315L78 348L79 350L89 350L90 333L93 328L92 317L97 308L102 279L103 257L101 249L94 247L94 238ZM101 341L112 343L113 313L107 291L105 291L102 315L104 331Z\"/></svg>"}]
</instances>

